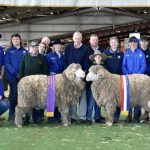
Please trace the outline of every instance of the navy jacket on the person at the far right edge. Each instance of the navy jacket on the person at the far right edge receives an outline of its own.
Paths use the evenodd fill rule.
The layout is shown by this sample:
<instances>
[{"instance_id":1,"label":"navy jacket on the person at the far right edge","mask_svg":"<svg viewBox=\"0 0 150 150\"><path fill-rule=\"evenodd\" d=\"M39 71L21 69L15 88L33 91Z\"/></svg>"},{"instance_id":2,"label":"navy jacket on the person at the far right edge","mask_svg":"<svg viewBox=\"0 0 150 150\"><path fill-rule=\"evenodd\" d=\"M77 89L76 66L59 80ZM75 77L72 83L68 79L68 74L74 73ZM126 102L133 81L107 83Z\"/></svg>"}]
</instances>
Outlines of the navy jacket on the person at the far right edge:
<instances>
[{"instance_id":1,"label":"navy jacket on the person at the far right edge","mask_svg":"<svg viewBox=\"0 0 150 150\"><path fill-rule=\"evenodd\" d=\"M142 50L142 51L146 57L147 70L146 70L145 74L150 76L150 49L146 49L146 50Z\"/></svg>"}]
</instances>

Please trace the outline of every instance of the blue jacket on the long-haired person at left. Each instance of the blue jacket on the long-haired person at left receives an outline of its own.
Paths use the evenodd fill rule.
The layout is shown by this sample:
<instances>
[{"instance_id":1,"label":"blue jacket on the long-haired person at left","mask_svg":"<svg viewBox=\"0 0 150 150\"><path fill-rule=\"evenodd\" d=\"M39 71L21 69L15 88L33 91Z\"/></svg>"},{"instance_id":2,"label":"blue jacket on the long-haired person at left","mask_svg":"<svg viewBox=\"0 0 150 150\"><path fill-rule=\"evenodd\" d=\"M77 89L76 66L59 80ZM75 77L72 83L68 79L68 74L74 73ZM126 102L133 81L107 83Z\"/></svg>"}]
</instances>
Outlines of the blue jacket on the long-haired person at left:
<instances>
[{"instance_id":1,"label":"blue jacket on the long-haired person at left","mask_svg":"<svg viewBox=\"0 0 150 150\"><path fill-rule=\"evenodd\" d=\"M6 50L5 66L7 80L16 80L19 77L20 66L26 53L27 50L23 47L19 49L11 47Z\"/></svg>"}]
</instances>

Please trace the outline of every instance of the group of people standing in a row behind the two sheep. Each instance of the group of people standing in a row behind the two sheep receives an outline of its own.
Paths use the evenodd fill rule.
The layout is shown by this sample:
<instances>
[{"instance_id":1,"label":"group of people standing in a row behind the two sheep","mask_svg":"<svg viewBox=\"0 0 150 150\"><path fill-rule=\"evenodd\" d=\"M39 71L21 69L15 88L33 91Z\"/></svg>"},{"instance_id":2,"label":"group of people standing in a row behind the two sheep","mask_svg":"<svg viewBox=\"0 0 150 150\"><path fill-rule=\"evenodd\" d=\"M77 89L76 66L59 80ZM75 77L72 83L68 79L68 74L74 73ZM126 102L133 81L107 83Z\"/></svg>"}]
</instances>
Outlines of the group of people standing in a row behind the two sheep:
<instances>
[{"instance_id":1,"label":"group of people standing in a row behind the two sheep","mask_svg":"<svg viewBox=\"0 0 150 150\"><path fill-rule=\"evenodd\" d=\"M0 82L0 115L9 108L8 120L14 121L15 107L17 105L17 84L21 78L35 74L59 74L72 63L79 63L85 73L88 73L88 69L92 65L102 65L113 74L150 75L150 50L148 49L147 37L144 36L140 39L140 47L138 47L138 39L134 36L130 37L130 47L125 52L120 51L117 37L110 38L110 49L108 50L100 47L96 34L90 36L89 43L89 46L83 44L82 34L75 32L73 34L73 43L68 44L64 51L61 51L62 43L60 39L54 41L51 49L48 37L42 38L40 44L32 41L29 45L29 50L26 50L22 45L20 35L13 34L11 37L11 46L6 50L5 56L0 49L0 80L2 81L5 66L6 79L10 86L8 103L4 99L3 84ZM93 120L95 123L101 123L105 120L101 116L101 108L97 106L90 87L91 83L86 82L86 88L82 93L78 111L77 105L70 106L72 122L79 119L81 123L91 125ZM119 121L120 111L120 108L117 107L114 122ZM132 118L132 108L130 108L126 122L139 122L139 115L140 108L135 107L134 118ZM49 118L49 121L60 120L60 118L59 109L55 108L54 118ZM28 124L29 119L30 116L26 114L24 123ZM39 123L43 119L44 110L33 109L32 120L34 123Z\"/></svg>"}]
</instances>

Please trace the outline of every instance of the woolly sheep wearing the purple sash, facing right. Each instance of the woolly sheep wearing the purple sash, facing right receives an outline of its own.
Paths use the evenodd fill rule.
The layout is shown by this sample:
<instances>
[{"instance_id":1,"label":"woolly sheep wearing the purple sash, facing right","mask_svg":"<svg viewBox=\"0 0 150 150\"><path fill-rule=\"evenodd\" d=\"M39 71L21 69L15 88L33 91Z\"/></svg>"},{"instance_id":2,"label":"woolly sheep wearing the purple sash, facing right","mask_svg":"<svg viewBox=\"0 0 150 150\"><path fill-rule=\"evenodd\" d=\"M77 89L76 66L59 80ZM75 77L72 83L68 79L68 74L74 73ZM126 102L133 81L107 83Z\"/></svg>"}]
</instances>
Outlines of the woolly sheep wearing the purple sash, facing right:
<instances>
[{"instance_id":1,"label":"woolly sheep wearing the purple sash, facing right","mask_svg":"<svg viewBox=\"0 0 150 150\"><path fill-rule=\"evenodd\" d=\"M59 107L62 124L71 124L69 107L79 101L85 82L84 71L79 64L69 65L62 74L55 75L56 100ZM23 116L30 114L33 108L45 109L47 97L48 76L31 75L22 78L18 83L18 104L16 106L15 124L22 127Z\"/></svg>"}]
</instances>

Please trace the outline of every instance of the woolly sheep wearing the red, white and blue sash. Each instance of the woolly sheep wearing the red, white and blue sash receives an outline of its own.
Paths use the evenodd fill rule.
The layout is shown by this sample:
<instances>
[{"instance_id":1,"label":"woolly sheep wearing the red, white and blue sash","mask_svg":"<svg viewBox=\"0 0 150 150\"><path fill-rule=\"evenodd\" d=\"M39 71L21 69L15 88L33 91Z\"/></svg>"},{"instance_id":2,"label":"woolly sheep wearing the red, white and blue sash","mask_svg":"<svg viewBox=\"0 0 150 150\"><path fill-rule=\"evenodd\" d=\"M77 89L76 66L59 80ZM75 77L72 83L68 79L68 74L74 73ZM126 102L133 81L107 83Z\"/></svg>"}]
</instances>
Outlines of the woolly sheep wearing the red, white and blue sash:
<instances>
[{"instance_id":1,"label":"woolly sheep wearing the red, white and blue sash","mask_svg":"<svg viewBox=\"0 0 150 150\"><path fill-rule=\"evenodd\" d=\"M130 106L141 106L141 122L145 119L145 111L150 118L150 78L147 75L128 75L130 87ZM106 124L112 126L116 106L121 106L120 75L111 74L100 65L92 66L86 76L93 81L92 94L97 105L104 106L107 114ZM150 119L149 119L150 123Z\"/></svg>"}]
</instances>

